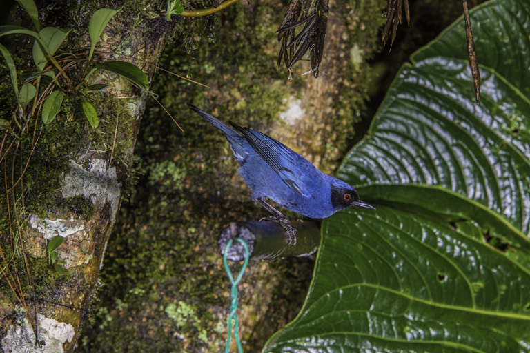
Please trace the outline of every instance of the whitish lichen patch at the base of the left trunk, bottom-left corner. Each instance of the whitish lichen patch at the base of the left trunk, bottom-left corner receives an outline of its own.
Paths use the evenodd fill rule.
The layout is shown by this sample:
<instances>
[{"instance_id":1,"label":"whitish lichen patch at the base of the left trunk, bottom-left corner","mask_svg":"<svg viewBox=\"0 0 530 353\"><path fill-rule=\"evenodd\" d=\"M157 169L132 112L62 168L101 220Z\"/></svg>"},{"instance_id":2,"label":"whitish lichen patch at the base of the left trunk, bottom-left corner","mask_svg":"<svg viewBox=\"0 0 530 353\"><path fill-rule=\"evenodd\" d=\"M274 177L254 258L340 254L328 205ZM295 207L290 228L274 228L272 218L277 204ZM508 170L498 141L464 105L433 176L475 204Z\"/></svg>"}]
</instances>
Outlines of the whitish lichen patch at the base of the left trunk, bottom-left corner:
<instances>
[{"instance_id":1,"label":"whitish lichen patch at the base of the left trunk, bottom-left corner","mask_svg":"<svg viewBox=\"0 0 530 353\"><path fill-rule=\"evenodd\" d=\"M69 323L61 323L57 320L47 318L41 314L37 315L39 327L39 341L45 345L35 346L35 333L33 327L24 319L22 325L12 325L3 336L1 348L3 352L12 353L63 353L63 343L72 342L75 330Z\"/></svg>"}]
</instances>

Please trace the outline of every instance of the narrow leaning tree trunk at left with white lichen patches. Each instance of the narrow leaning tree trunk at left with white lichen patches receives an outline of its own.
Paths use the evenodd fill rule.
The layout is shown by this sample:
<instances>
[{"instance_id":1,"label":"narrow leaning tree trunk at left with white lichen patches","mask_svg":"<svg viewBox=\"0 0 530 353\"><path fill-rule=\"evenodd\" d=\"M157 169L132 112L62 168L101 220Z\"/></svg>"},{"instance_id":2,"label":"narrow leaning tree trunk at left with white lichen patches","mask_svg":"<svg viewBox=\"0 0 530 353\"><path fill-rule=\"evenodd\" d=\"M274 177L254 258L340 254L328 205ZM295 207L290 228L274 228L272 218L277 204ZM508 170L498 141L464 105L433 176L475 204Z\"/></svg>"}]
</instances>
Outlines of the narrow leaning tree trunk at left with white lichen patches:
<instances>
[{"instance_id":1,"label":"narrow leaning tree trunk at left with white lichen patches","mask_svg":"<svg viewBox=\"0 0 530 353\"><path fill-rule=\"evenodd\" d=\"M103 6L87 11L86 5L67 1L39 6L45 26L75 28L56 56L90 48L88 19ZM146 7L139 1L111 1L107 6L123 10L110 21L96 48L101 54L93 60L128 61L153 77L153 64L169 29L166 21L145 18ZM31 65L29 44L16 48L17 62ZM84 64L80 61L66 70L72 81L79 79ZM42 127L34 151L25 145L32 139L6 132L6 141L14 141L15 147L0 165L4 188L0 245L5 258L0 265L6 272L0 280L3 352L72 352L98 286L110 230L128 188L148 94L101 70L92 74L90 83L107 87L92 92L67 90L63 110ZM6 90L3 94L10 94L8 86L2 89ZM81 99L95 106L100 119L97 129L86 122L79 108ZM30 123L40 125L40 117ZM20 165L27 160L28 168L23 170ZM19 177L21 182L11 188ZM57 258L66 261L64 276L55 273L47 260L48 241L57 235L64 237L57 249ZM14 295L17 290L24 300Z\"/></svg>"}]
</instances>

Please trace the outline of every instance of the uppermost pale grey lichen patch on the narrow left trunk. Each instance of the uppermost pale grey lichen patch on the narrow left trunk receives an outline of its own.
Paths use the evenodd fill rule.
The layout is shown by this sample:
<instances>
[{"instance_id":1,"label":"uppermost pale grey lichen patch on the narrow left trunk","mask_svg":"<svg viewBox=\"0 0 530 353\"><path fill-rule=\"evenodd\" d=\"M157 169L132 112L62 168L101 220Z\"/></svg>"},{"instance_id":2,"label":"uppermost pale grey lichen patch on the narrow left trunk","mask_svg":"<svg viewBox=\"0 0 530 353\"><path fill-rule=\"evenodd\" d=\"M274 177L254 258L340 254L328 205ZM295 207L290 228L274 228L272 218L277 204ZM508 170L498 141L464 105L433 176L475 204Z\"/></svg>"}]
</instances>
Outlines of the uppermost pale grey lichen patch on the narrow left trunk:
<instances>
[{"instance_id":1,"label":"uppermost pale grey lichen patch on the narrow left trunk","mask_svg":"<svg viewBox=\"0 0 530 353\"><path fill-rule=\"evenodd\" d=\"M92 161L90 170L72 161L70 172L63 180L63 196L85 196L95 205L110 204L110 219L114 223L119 204L120 183L116 168L107 168L103 159Z\"/></svg>"}]
</instances>

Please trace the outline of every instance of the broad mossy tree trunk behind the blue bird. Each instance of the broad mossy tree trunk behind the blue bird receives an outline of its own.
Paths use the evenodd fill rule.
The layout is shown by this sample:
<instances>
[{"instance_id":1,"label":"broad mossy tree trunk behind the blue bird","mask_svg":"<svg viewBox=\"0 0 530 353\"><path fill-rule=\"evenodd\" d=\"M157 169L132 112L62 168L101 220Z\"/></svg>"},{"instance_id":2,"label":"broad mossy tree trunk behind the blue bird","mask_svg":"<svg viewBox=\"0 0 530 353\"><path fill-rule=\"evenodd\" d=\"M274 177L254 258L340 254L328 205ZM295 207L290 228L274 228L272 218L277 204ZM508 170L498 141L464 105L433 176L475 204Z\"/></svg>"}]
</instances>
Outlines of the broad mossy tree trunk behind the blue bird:
<instances>
[{"instance_id":1,"label":"broad mossy tree trunk behind the blue bird","mask_svg":"<svg viewBox=\"0 0 530 353\"><path fill-rule=\"evenodd\" d=\"M363 59L377 47L377 28L384 22L378 1L362 3L331 5L318 79L302 76L310 70L306 63L295 66L291 82L283 66L276 68L276 30L286 1L241 1L194 25L181 24L186 30L164 50L161 66L208 88L166 74L157 77L153 90L184 132L150 105L135 150L143 175L121 209L101 272L101 307L86 325L79 350L224 349L230 282L217 236L230 221L268 214L251 201L226 139L188 112L185 103L270 134L333 172L365 99L369 70ZM197 41L198 30L202 41ZM249 264L238 288L245 352L259 352L295 318L313 261ZM239 263L230 268L238 270Z\"/></svg>"}]
</instances>

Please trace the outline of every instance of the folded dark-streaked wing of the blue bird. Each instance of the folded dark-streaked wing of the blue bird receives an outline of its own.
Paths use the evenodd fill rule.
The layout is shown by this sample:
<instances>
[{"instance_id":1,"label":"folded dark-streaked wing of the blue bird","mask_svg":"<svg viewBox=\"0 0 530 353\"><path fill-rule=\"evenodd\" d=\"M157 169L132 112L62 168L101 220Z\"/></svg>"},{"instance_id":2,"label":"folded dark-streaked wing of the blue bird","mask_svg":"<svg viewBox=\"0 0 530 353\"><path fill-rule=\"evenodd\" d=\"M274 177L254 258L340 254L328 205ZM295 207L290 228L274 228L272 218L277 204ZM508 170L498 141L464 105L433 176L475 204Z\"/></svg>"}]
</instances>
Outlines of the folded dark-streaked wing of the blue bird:
<instances>
[{"instance_id":1,"label":"folded dark-streaked wing of the blue bird","mask_svg":"<svg viewBox=\"0 0 530 353\"><path fill-rule=\"evenodd\" d=\"M242 128L241 126L228 121L235 130L241 132L246 140L251 143L256 152L271 165L271 168L277 172L279 177L291 188L302 196L307 196L303 188L303 181L296 174L297 168L300 168L301 163L307 163L311 165L304 157L297 154L295 151L288 148L283 143L276 141L272 137L268 137L266 134L262 134L259 131L255 131L249 128ZM300 173L300 171L299 171Z\"/></svg>"}]
</instances>

